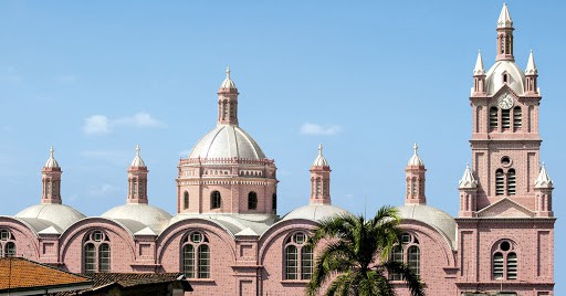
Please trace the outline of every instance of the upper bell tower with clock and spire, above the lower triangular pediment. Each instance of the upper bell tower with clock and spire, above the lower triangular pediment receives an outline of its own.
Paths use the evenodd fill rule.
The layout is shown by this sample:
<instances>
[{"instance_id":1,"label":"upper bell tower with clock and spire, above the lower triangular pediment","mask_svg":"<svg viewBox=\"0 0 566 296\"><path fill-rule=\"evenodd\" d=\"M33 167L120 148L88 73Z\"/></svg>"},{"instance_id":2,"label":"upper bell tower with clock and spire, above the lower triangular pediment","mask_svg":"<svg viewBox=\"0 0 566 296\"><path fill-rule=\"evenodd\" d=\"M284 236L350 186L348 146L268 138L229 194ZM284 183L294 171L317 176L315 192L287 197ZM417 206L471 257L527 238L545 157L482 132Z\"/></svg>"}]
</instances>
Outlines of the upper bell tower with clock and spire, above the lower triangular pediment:
<instances>
[{"instance_id":1,"label":"upper bell tower with clock and spire, above the lower triangular pediment","mask_svg":"<svg viewBox=\"0 0 566 296\"><path fill-rule=\"evenodd\" d=\"M525 71L513 56L513 20L503 4L497 20L497 55L495 64L483 68L481 53L473 71L472 168L473 202L461 209L482 209L509 198L535 210L535 180L539 172L538 106L541 93L536 85L538 72L531 53ZM470 207L473 204L474 207Z\"/></svg>"}]
</instances>

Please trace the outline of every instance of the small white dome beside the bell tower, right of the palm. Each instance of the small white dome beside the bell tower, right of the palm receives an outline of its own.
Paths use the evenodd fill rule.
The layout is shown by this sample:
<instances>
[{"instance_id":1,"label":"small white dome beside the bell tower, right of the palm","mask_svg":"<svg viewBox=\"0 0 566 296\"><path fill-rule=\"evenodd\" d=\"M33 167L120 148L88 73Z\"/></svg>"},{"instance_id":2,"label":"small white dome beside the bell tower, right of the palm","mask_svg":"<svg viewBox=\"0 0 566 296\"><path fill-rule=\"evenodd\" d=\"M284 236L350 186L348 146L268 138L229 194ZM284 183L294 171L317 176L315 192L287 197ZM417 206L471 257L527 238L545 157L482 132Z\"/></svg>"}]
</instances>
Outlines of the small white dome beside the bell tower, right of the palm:
<instances>
[{"instance_id":1,"label":"small white dome beside the bell tower, right of the palm","mask_svg":"<svg viewBox=\"0 0 566 296\"><path fill-rule=\"evenodd\" d=\"M450 240L450 246L454 247L457 224L450 214L426 204L408 204L397 209L401 219L412 219L432 226Z\"/></svg>"}]
</instances>

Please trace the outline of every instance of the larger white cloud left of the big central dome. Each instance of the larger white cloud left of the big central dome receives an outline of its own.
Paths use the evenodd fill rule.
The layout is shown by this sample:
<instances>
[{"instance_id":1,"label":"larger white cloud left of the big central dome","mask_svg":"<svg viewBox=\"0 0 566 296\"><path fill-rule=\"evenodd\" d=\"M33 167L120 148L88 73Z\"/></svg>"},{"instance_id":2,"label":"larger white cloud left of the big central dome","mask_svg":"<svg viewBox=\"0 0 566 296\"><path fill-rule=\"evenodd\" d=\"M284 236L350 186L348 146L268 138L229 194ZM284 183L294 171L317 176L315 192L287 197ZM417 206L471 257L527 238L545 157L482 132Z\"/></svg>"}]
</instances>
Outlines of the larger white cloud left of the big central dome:
<instances>
[{"instance_id":1,"label":"larger white cloud left of the big central dome","mask_svg":"<svg viewBox=\"0 0 566 296\"><path fill-rule=\"evenodd\" d=\"M160 128L166 127L166 125L151 117L150 114L143 112L115 119L108 118L105 115L93 115L84 119L83 131L87 135L107 135L119 127Z\"/></svg>"}]
</instances>

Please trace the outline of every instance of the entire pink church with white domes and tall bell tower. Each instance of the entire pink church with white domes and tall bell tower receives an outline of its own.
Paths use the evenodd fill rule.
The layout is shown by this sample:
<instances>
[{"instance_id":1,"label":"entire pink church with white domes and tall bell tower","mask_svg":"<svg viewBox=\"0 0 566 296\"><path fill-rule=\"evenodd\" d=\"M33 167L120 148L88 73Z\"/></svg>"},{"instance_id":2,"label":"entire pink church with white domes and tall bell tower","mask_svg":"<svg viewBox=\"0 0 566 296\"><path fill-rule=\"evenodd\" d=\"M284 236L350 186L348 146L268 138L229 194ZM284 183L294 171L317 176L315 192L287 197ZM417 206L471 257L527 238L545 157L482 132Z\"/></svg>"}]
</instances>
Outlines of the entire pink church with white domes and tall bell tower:
<instances>
[{"instance_id":1,"label":"entire pink church with white domes and tall bell tower","mask_svg":"<svg viewBox=\"0 0 566 296\"><path fill-rule=\"evenodd\" d=\"M503 6L489 71L478 54L472 163L459 182L458 216L427 205L417 145L406 167L405 233L391 257L420 274L428 295L553 295L555 219L553 182L539 166L542 96L533 53L525 71L515 63L513 30ZM197 295L303 294L316 256L305 244L310 230L347 211L332 205L331 166L318 147L308 203L277 214L275 161L240 127L238 95L227 70L217 126L179 160L175 215L149 204L139 147L125 203L88 218L63 204L62 170L51 150L40 203L0 216L0 255L74 273L184 272Z\"/></svg>"}]
</instances>

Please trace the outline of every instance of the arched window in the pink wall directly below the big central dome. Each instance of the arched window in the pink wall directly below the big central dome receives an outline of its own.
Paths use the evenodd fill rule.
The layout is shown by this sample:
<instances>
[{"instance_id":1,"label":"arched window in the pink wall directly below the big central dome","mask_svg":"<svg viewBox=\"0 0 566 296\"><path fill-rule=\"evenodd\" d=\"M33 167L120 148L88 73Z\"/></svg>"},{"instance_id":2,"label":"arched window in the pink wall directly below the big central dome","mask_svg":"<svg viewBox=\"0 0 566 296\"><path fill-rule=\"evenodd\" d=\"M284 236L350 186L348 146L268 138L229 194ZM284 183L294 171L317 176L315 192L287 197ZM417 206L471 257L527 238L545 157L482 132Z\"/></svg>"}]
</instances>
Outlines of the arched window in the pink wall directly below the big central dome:
<instances>
[{"instance_id":1,"label":"arched window in the pink wall directly below the big central dome","mask_svg":"<svg viewBox=\"0 0 566 296\"><path fill-rule=\"evenodd\" d=\"M181 245L182 273L188 278L210 278L210 246L208 237L200 231L195 231L182 241ZM195 250L197 252L195 253Z\"/></svg>"}]
</instances>

